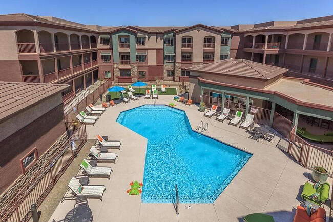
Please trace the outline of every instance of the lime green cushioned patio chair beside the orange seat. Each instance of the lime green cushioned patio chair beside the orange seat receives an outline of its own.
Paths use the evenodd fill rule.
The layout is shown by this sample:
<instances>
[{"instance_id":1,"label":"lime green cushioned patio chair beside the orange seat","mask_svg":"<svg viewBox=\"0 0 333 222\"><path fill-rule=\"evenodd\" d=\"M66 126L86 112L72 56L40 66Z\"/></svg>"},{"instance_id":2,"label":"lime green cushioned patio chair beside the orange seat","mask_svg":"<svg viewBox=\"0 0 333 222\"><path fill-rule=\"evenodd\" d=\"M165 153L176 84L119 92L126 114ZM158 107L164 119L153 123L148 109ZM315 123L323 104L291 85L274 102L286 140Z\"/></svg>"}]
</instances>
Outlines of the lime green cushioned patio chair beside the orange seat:
<instances>
[{"instance_id":1,"label":"lime green cushioned patio chair beside the orange seat","mask_svg":"<svg viewBox=\"0 0 333 222\"><path fill-rule=\"evenodd\" d=\"M323 203L325 203L325 201L328 199L329 189L330 189L330 185L328 182L323 183L317 189L314 188L313 183L305 182L301 197L304 200L311 201L312 203L320 206ZM314 193L319 193L319 197L317 199L310 198L310 196Z\"/></svg>"}]
</instances>

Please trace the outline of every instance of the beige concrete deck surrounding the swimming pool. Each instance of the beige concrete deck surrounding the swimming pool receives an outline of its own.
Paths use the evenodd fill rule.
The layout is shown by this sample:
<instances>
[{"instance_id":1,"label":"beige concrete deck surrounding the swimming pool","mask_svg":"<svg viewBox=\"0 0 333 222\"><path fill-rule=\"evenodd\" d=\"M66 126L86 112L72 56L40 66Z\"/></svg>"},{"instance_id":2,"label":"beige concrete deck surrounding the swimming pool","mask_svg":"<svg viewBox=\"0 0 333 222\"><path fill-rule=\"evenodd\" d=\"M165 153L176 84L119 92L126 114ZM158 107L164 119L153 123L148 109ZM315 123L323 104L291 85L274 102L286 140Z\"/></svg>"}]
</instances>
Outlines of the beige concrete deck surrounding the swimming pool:
<instances>
[{"instance_id":1,"label":"beige concrete deck surrounding the swimming pool","mask_svg":"<svg viewBox=\"0 0 333 222\"><path fill-rule=\"evenodd\" d=\"M156 104L170 102L173 102L173 96L159 96L156 100ZM266 140L257 142L249 139L249 134L244 129L228 125L227 120L221 123L217 122L214 116L211 119L203 117L196 105L174 103L177 105L176 108L186 112L193 130L201 120L203 123L208 122L209 130L203 134L239 149L246 149L253 153L253 156L213 204L179 204L179 215L176 215L172 204L146 204L141 202L141 195L129 196L126 193L126 190L130 189L131 181L143 180L147 139L116 123L116 119L121 111L144 104L154 104L154 100L141 97L131 103L121 103L107 108L94 126L87 126L88 139L96 138L97 134L106 135L109 140L121 140L122 145L120 150L109 150L118 153L116 164L98 164L112 167L110 180L90 179L90 185L106 187L103 201L88 200L93 212L93 221L239 222L243 221L243 216L247 214L268 213L276 222L292 222L300 204L303 184L307 179L311 179L311 171L300 166L287 153L276 147L280 138L274 143ZM333 182L330 178L328 181L330 184ZM59 203L50 222L52 219L64 219L67 212L73 208L75 200L70 198L69 192L66 192L65 196L69 198ZM185 206L191 206L191 209L185 209ZM329 212L328 206L325 206L325 209Z\"/></svg>"}]
</instances>

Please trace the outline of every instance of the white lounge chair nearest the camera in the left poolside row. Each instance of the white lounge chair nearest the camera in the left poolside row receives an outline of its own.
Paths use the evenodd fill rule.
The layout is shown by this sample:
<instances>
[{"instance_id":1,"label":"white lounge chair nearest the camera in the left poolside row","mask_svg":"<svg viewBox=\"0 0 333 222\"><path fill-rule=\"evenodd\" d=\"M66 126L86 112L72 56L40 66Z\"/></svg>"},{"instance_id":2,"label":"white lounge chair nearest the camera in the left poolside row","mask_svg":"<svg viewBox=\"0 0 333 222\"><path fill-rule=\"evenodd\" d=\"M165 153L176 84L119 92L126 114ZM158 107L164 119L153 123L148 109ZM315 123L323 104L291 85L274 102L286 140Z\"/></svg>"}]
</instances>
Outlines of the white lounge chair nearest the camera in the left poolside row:
<instances>
[{"instance_id":1,"label":"white lounge chair nearest the camera in the left poolside row","mask_svg":"<svg viewBox=\"0 0 333 222\"><path fill-rule=\"evenodd\" d=\"M82 186L79 181L72 177L68 184L68 187L73 191L76 196L86 196L92 198L99 198L102 200L105 187L103 185L99 186Z\"/></svg>"}]
</instances>

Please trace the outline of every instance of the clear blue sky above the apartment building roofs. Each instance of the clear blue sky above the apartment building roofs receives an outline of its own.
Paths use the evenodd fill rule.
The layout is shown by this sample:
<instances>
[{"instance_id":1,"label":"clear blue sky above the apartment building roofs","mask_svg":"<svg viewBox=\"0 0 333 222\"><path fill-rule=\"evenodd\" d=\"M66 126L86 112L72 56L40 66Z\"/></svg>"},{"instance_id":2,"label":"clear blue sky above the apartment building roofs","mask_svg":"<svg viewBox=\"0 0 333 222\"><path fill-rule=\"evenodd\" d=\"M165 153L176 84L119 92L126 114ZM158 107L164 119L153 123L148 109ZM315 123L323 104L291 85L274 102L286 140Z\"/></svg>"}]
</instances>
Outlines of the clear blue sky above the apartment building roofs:
<instances>
[{"instance_id":1,"label":"clear blue sky above the apartment building roofs","mask_svg":"<svg viewBox=\"0 0 333 222\"><path fill-rule=\"evenodd\" d=\"M333 15L333 0L3 0L0 14L11 13L102 26L230 26Z\"/></svg>"}]
</instances>

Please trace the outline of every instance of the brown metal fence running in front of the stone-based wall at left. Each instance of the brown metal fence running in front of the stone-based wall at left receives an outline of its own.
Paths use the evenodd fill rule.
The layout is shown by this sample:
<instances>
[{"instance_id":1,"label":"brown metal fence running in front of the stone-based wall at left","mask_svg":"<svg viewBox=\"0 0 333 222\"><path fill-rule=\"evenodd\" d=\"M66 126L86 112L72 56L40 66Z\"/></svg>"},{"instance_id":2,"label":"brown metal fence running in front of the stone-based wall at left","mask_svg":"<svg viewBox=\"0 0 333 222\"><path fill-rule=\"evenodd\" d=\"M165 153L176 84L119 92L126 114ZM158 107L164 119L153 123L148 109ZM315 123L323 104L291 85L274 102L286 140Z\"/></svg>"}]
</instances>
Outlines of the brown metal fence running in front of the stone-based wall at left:
<instances>
[{"instance_id":1,"label":"brown metal fence running in front of the stone-based wall at left","mask_svg":"<svg viewBox=\"0 0 333 222\"><path fill-rule=\"evenodd\" d=\"M79 152L87 141L85 123L80 126L71 126L72 136L61 144L60 148L45 163L41 163L39 171L26 181L13 199L0 212L1 222L26 222L31 218L31 205L37 208L43 203L54 185L75 158L72 143L75 143L76 152ZM75 130L76 129L76 130Z\"/></svg>"}]
</instances>

